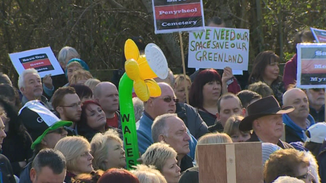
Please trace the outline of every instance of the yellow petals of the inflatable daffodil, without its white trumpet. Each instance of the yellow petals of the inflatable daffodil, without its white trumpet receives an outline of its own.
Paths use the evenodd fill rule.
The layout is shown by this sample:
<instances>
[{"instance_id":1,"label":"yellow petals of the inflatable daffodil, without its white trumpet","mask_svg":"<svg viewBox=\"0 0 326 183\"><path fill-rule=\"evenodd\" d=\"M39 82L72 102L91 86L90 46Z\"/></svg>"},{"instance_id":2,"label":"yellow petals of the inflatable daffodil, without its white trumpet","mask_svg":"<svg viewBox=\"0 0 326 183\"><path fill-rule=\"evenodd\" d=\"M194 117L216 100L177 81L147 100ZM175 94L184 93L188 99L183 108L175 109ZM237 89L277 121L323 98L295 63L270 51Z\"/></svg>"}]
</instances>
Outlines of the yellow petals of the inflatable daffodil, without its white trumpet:
<instances>
[{"instance_id":1,"label":"yellow petals of the inflatable daffodil, without its white trumpet","mask_svg":"<svg viewBox=\"0 0 326 183\"><path fill-rule=\"evenodd\" d=\"M126 69L126 74L133 80L133 89L137 97L143 102L150 97L159 97L161 95L161 88L153 79L157 77L157 74L148 65L145 55L140 55L136 43L131 39L126 40L124 44L124 55L126 57L124 68Z\"/></svg>"}]
</instances>

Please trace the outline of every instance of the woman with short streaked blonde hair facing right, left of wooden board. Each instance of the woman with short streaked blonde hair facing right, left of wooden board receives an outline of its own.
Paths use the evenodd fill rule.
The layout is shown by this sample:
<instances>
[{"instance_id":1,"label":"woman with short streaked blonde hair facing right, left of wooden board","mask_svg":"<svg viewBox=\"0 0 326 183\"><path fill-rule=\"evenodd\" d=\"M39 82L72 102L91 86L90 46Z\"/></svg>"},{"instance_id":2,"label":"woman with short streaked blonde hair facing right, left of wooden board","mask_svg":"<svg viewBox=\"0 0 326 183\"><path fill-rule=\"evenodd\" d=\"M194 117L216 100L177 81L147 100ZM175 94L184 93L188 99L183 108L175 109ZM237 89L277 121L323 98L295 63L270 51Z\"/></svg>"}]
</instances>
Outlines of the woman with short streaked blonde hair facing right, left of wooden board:
<instances>
[{"instance_id":1,"label":"woman with short streaked blonde hair facing right, left of wooden board","mask_svg":"<svg viewBox=\"0 0 326 183\"><path fill-rule=\"evenodd\" d=\"M178 183L181 168L176 156L176 151L168 144L157 142L150 145L141 158L145 165L154 165L168 183Z\"/></svg>"}]
</instances>

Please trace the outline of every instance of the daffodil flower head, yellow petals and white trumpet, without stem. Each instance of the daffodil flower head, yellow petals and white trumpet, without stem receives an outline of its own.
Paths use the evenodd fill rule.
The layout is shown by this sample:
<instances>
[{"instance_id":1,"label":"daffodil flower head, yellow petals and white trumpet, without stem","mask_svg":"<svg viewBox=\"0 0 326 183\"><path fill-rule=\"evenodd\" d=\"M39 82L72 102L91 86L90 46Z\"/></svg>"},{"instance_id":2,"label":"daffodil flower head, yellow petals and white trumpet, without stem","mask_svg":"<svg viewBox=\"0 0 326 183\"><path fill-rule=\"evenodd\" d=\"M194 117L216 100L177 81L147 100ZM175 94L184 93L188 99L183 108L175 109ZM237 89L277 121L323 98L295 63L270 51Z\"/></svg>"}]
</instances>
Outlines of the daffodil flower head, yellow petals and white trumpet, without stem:
<instances>
[{"instance_id":1,"label":"daffodil flower head, yellow petals and white trumpet, without stem","mask_svg":"<svg viewBox=\"0 0 326 183\"><path fill-rule=\"evenodd\" d=\"M124 44L126 74L133 80L133 90L143 102L150 97L159 97L161 89L153 78L167 78L167 59L162 50L154 43L145 48L145 55L140 55L136 43L131 39Z\"/></svg>"}]
</instances>

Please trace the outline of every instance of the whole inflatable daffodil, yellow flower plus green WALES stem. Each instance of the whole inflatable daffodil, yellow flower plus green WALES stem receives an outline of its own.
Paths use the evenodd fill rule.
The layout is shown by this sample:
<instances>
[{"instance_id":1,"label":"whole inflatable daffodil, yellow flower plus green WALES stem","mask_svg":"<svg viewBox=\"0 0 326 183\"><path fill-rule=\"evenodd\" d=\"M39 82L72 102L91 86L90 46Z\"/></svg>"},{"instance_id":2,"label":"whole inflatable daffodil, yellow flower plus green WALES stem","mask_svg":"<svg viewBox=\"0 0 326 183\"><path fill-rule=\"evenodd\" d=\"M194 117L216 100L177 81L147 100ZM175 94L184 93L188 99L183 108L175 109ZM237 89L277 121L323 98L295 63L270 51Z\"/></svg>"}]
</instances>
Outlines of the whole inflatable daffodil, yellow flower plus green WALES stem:
<instances>
[{"instance_id":1,"label":"whole inflatable daffodil, yellow flower plus green WALES stem","mask_svg":"<svg viewBox=\"0 0 326 183\"><path fill-rule=\"evenodd\" d=\"M147 101L150 97L161 95L161 88L153 80L155 77L166 79L168 74L167 59L162 50L154 43L145 48L145 55L131 39L124 45L126 73L119 82L119 105L126 152L126 167L130 170L139 158L135 113L133 112L132 89L137 96Z\"/></svg>"}]
</instances>

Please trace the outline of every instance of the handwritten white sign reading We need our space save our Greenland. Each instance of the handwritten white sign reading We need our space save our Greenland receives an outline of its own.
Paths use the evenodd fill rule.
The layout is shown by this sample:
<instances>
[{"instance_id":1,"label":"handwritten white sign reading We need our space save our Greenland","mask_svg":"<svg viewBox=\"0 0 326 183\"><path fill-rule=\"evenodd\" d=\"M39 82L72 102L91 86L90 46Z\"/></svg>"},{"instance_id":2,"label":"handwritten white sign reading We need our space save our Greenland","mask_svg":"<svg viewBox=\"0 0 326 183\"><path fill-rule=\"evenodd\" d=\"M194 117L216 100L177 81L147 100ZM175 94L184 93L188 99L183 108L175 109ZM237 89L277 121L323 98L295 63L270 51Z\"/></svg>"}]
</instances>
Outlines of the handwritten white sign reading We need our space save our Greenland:
<instances>
[{"instance_id":1,"label":"handwritten white sign reading We need our space save our Greenland","mask_svg":"<svg viewBox=\"0 0 326 183\"><path fill-rule=\"evenodd\" d=\"M189 33L188 67L248 69L249 30L206 27Z\"/></svg>"}]
</instances>

